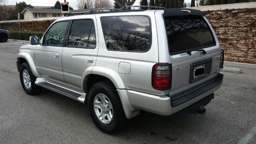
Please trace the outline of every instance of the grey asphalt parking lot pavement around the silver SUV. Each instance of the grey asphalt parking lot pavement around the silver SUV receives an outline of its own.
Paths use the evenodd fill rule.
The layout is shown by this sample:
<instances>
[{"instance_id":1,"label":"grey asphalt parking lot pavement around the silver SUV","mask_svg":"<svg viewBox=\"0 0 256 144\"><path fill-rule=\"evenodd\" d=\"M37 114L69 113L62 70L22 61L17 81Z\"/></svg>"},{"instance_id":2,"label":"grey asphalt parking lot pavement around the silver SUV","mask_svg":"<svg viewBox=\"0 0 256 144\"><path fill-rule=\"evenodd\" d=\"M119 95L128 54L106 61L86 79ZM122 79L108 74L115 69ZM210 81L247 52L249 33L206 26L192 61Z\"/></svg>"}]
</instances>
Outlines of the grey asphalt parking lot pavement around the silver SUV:
<instances>
[{"instance_id":1,"label":"grey asphalt parking lot pavement around the silver SUV","mask_svg":"<svg viewBox=\"0 0 256 144\"><path fill-rule=\"evenodd\" d=\"M0 43L0 144L256 144L256 69L224 73L205 115L140 112L118 134L101 132L88 108L44 89L30 96L16 68L18 42Z\"/></svg>"}]
</instances>

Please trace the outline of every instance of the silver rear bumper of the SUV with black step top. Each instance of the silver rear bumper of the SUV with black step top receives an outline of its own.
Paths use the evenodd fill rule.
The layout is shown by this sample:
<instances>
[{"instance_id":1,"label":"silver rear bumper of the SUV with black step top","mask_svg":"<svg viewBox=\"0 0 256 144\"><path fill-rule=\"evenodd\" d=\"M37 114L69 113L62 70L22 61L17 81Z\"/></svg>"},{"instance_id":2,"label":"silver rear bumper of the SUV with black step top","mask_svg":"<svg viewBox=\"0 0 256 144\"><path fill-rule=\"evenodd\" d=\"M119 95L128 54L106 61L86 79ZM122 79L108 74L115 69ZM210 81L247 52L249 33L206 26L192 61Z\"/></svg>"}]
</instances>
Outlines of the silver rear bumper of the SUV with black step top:
<instances>
[{"instance_id":1,"label":"silver rear bumper of the SUV with black step top","mask_svg":"<svg viewBox=\"0 0 256 144\"><path fill-rule=\"evenodd\" d=\"M172 96L155 96L151 94L145 94L142 92L136 92L133 90L126 90L130 104L134 109L144 110L154 114L168 116L176 112L182 111L193 104L201 103L208 104L212 98L208 98L206 101L204 98L212 95L213 92L218 90L222 84L223 74L219 73L213 82L206 84L205 86L198 88L189 94L181 96L180 98L173 99ZM200 104L200 106L202 106ZM204 105L204 106L205 106ZM197 107L197 105L194 105ZM189 112L194 113L195 109L186 110L182 115L188 115ZM196 112L196 111L195 111Z\"/></svg>"}]
</instances>

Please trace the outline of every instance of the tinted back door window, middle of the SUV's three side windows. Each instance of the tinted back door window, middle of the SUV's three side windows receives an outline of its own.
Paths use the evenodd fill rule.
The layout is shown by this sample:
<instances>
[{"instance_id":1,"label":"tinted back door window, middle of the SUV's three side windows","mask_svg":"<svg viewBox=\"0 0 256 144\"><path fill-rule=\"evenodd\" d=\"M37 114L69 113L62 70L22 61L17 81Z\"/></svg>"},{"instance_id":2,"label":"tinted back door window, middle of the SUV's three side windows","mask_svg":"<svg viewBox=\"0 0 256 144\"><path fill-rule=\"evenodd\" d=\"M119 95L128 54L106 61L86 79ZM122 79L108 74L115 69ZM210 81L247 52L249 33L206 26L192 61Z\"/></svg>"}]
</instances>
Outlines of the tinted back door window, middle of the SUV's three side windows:
<instances>
[{"instance_id":1,"label":"tinted back door window, middle of the SUV's three side windows","mask_svg":"<svg viewBox=\"0 0 256 144\"><path fill-rule=\"evenodd\" d=\"M68 36L68 46L95 48L95 28L92 20L74 20Z\"/></svg>"}]
</instances>

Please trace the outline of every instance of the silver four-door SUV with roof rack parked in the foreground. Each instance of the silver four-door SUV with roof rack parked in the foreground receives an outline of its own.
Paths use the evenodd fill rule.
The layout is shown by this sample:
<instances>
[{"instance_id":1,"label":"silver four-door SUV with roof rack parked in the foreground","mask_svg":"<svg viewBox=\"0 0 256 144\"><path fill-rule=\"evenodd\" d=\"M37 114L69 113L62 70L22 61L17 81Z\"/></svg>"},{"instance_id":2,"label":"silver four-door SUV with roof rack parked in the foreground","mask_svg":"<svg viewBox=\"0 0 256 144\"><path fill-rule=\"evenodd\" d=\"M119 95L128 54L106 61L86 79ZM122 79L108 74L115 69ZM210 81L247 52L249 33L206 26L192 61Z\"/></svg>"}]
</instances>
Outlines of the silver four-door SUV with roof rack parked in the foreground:
<instances>
[{"instance_id":1,"label":"silver four-door SUV with roof rack parked in the foreground","mask_svg":"<svg viewBox=\"0 0 256 144\"><path fill-rule=\"evenodd\" d=\"M26 93L47 88L88 103L111 134L140 110L204 114L222 83L223 54L203 12L128 6L56 20L20 47L17 68Z\"/></svg>"}]
</instances>

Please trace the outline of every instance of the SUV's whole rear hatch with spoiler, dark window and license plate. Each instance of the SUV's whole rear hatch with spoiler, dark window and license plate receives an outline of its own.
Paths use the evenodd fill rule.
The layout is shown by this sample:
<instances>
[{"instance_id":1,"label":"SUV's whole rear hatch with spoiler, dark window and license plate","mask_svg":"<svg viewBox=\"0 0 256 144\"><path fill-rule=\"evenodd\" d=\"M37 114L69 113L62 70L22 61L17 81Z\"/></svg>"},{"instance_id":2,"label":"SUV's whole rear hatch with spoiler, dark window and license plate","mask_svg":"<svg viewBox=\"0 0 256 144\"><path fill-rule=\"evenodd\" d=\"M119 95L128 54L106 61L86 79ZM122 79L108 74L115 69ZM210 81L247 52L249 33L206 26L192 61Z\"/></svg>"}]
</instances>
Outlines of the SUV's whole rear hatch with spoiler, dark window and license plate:
<instances>
[{"instance_id":1,"label":"SUV's whole rear hatch with spoiler, dark window and license plate","mask_svg":"<svg viewBox=\"0 0 256 144\"><path fill-rule=\"evenodd\" d=\"M214 81L221 50L204 13L191 9L165 9L164 24L172 64L173 99Z\"/></svg>"}]
</instances>

